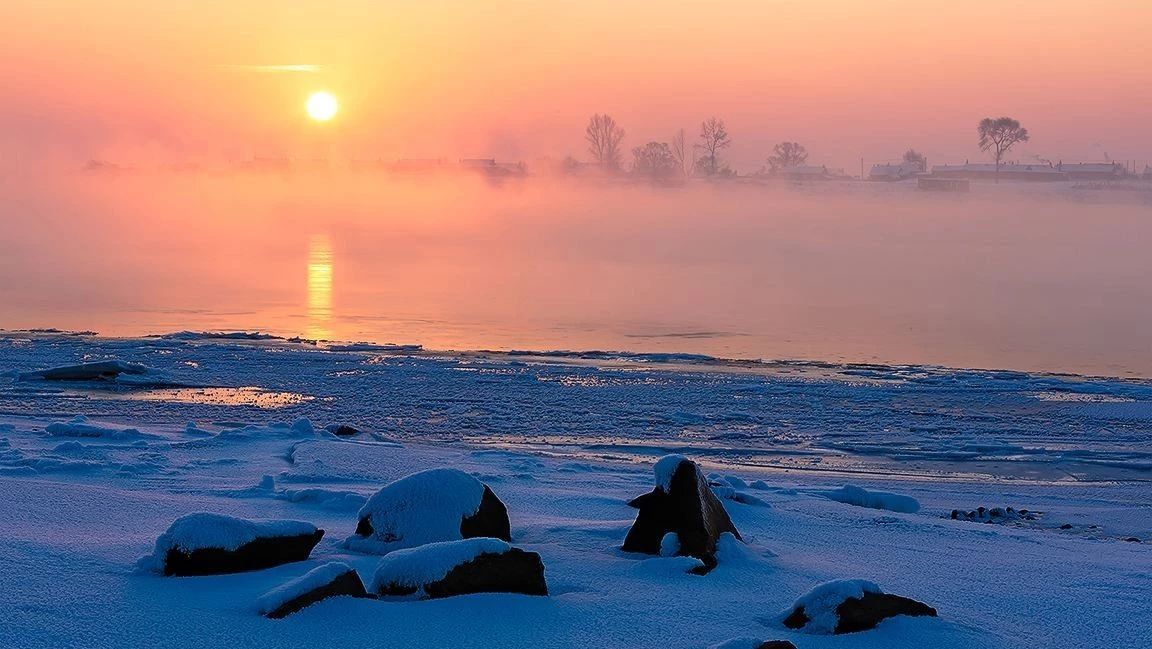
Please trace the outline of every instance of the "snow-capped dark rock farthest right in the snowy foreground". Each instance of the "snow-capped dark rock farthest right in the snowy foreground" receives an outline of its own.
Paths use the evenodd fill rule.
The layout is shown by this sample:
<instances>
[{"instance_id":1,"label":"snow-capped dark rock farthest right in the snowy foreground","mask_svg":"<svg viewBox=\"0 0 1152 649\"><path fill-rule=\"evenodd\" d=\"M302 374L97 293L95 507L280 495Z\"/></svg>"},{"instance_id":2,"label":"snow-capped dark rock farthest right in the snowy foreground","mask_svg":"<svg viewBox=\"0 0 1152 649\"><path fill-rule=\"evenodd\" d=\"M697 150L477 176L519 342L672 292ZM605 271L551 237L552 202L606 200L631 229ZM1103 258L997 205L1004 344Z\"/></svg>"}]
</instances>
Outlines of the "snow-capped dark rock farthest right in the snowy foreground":
<instances>
[{"instance_id":1,"label":"snow-capped dark rock farthest right in the snowy foreground","mask_svg":"<svg viewBox=\"0 0 1152 649\"><path fill-rule=\"evenodd\" d=\"M785 616L783 625L805 633L841 634L876 628L894 616L935 614L935 609L927 604L885 594L871 581L841 579L804 594Z\"/></svg>"}]
</instances>

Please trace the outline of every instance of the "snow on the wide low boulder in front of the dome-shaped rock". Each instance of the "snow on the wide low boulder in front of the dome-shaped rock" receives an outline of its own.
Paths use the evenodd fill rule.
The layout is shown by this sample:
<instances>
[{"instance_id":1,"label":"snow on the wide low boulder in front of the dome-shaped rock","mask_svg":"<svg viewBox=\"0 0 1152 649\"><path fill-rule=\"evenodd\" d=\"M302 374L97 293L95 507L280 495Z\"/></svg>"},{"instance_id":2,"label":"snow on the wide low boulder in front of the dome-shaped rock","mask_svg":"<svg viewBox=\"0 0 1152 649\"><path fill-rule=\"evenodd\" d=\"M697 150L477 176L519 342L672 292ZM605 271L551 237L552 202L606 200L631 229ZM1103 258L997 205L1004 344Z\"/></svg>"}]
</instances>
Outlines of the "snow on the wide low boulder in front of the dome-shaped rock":
<instances>
[{"instance_id":1,"label":"snow on the wide low boulder in front of the dome-shaped rock","mask_svg":"<svg viewBox=\"0 0 1152 649\"><path fill-rule=\"evenodd\" d=\"M394 584L416 588L439 581L452 568L471 561L480 554L503 554L511 546L499 538L464 538L462 541L442 541L429 543L419 548L408 548L389 552L376 568L372 575L371 593Z\"/></svg>"}]
</instances>

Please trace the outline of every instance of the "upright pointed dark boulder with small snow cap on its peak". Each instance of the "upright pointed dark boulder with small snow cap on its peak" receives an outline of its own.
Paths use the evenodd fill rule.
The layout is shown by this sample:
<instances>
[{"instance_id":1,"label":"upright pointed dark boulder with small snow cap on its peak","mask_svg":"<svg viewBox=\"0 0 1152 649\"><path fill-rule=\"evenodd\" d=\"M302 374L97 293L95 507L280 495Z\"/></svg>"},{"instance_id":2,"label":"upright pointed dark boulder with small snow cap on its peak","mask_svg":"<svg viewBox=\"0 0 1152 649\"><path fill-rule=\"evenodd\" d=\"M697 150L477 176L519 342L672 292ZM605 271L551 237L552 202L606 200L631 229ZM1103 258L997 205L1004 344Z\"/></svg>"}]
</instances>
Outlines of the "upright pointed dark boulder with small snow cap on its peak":
<instances>
[{"instance_id":1,"label":"upright pointed dark boulder with small snow cap on its peak","mask_svg":"<svg viewBox=\"0 0 1152 649\"><path fill-rule=\"evenodd\" d=\"M706 569L715 567L720 535L742 538L700 468L687 458L667 455L655 463L655 489L629 503L639 513L622 549L659 554L661 546L666 553L675 546L675 554L696 557ZM668 534L675 541L666 539Z\"/></svg>"}]
</instances>

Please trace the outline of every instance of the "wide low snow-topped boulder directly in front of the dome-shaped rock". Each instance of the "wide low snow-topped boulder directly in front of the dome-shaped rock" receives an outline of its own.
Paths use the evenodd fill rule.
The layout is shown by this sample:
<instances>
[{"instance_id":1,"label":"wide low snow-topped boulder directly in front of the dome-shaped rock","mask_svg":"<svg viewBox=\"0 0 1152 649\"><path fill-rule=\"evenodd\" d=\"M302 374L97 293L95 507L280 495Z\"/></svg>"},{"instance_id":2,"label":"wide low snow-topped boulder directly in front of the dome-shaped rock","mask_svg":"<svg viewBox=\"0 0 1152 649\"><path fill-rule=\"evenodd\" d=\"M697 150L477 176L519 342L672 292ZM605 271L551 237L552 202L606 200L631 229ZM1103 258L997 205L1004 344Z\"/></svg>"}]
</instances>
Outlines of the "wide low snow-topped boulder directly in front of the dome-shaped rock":
<instances>
[{"instance_id":1,"label":"wide low snow-topped boulder directly in front of the dome-shaped rock","mask_svg":"<svg viewBox=\"0 0 1152 649\"><path fill-rule=\"evenodd\" d=\"M536 552L499 538L468 538L388 553L377 567L372 591L434 599L473 593L547 595L548 586Z\"/></svg>"}]
</instances>

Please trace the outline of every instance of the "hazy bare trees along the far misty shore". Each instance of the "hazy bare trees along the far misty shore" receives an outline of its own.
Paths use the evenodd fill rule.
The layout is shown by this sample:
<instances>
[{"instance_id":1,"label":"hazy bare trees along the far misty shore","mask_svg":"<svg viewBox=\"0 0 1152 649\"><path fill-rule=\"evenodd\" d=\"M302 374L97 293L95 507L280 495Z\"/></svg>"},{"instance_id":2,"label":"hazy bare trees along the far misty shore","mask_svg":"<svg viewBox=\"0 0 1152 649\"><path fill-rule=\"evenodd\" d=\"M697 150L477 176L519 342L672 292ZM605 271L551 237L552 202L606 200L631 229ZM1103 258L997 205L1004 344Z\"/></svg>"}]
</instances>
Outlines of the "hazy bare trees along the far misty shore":
<instances>
[{"instance_id":1,"label":"hazy bare trees along the far misty shore","mask_svg":"<svg viewBox=\"0 0 1152 649\"><path fill-rule=\"evenodd\" d=\"M1014 145L1028 142L1028 129L1011 118L985 118L977 127L978 144L988 152L996 165L999 180L1003 157ZM593 163L608 173L624 171L623 141L627 133L608 114L592 115L584 129L584 141ZM654 179L698 175L705 178L733 176L736 173L722 159L725 149L732 146L732 136L723 120L708 118L700 122L696 142L689 146L684 129L676 131L670 142L652 141L631 150L631 173ZM904 164L927 171L924 154L909 149L904 152ZM780 142L767 157L767 171L775 173L801 167L808 163L808 149L797 142Z\"/></svg>"}]
</instances>

